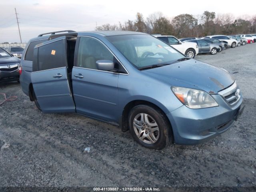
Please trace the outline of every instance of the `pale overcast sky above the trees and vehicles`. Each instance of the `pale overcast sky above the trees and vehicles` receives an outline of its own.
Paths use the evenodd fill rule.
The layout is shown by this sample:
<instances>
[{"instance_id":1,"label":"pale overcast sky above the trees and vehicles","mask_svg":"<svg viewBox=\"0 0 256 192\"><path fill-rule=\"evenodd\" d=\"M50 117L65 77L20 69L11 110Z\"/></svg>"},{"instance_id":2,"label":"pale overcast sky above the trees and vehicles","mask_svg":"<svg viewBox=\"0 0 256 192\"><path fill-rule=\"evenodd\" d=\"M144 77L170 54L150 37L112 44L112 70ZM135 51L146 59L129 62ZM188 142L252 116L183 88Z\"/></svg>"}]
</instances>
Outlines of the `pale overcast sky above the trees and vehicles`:
<instances>
[{"instance_id":1,"label":"pale overcast sky above the trees and vehicles","mask_svg":"<svg viewBox=\"0 0 256 192\"><path fill-rule=\"evenodd\" d=\"M23 42L44 32L94 30L96 22L100 26L134 20L137 12L144 18L154 12L173 18L184 13L198 15L205 10L243 18L256 15L256 0L245 4L225 0L0 0L0 42L20 42L15 7Z\"/></svg>"}]
</instances>

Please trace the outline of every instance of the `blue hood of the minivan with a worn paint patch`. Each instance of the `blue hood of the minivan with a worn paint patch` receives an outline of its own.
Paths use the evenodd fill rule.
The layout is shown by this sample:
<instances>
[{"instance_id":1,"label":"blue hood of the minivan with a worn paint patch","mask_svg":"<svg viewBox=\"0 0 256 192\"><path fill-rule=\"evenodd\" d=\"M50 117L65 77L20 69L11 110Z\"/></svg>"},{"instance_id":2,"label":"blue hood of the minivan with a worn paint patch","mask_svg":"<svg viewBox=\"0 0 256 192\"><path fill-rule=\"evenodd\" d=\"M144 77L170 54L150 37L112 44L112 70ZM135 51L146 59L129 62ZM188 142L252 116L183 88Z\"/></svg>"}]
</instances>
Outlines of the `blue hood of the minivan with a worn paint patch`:
<instances>
[{"instance_id":1,"label":"blue hood of the minivan with a worn paint patch","mask_svg":"<svg viewBox=\"0 0 256 192\"><path fill-rule=\"evenodd\" d=\"M217 94L230 86L235 79L223 69L204 62L190 59L167 66L142 71L170 86L188 87Z\"/></svg>"}]
</instances>

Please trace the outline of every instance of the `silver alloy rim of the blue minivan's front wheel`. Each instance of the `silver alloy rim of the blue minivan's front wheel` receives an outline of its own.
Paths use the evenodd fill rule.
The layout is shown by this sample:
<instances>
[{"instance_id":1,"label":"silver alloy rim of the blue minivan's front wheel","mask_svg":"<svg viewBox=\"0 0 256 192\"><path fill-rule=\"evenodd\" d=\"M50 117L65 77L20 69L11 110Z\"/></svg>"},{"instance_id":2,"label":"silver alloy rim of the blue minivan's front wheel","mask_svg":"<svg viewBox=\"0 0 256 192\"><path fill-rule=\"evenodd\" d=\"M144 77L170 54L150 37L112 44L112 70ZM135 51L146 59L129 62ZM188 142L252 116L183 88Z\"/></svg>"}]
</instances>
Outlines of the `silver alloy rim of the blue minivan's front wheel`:
<instances>
[{"instance_id":1,"label":"silver alloy rim of the blue minivan's front wheel","mask_svg":"<svg viewBox=\"0 0 256 192\"><path fill-rule=\"evenodd\" d=\"M134 117L133 128L137 137L144 143L153 144L159 139L158 124L146 113L140 113Z\"/></svg>"}]
</instances>

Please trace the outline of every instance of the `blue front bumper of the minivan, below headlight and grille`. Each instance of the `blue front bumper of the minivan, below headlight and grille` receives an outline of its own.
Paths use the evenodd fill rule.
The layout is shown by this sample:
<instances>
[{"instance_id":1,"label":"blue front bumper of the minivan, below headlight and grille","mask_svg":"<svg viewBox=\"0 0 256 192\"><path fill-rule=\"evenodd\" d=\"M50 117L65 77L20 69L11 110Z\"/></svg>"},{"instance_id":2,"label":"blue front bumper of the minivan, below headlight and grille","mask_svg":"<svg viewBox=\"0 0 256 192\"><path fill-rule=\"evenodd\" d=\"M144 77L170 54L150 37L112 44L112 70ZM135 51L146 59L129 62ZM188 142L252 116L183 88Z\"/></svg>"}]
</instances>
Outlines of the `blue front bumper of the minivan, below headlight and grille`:
<instances>
[{"instance_id":1,"label":"blue front bumper of the minivan, below headlight and grille","mask_svg":"<svg viewBox=\"0 0 256 192\"><path fill-rule=\"evenodd\" d=\"M219 94L212 96L218 107L190 109L181 106L167 114L176 144L194 145L210 140L228 130L242 113L242 96L235 106L230 106Z\"/></svg>"}]
</instances>

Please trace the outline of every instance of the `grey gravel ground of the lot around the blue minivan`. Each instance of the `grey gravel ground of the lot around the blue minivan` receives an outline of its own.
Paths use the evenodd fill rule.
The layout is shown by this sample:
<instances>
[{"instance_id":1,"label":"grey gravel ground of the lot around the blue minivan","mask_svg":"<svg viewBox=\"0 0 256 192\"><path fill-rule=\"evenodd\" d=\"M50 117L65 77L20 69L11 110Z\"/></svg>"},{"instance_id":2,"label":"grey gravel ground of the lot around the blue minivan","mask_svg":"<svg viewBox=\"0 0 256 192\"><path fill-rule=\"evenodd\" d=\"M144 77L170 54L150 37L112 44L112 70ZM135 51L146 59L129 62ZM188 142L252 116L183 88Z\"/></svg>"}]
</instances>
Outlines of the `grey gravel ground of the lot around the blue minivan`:
<instances>
[{"instance_id":1,"label":"grey gravel ground of the lot around the blue minivan","mask_svg":"<svg viewBox=\"0 0 256 192\"><path fill-rule=\"evenodd\" d=\"M0 92L18 96L0 106L0 186L256 186L255 50L256 43L196 56L236 72L246 108L217 138L161 151L143 148L116 126L43 114L20 84L0 84Z\"/></svg>"}]
</instances>

